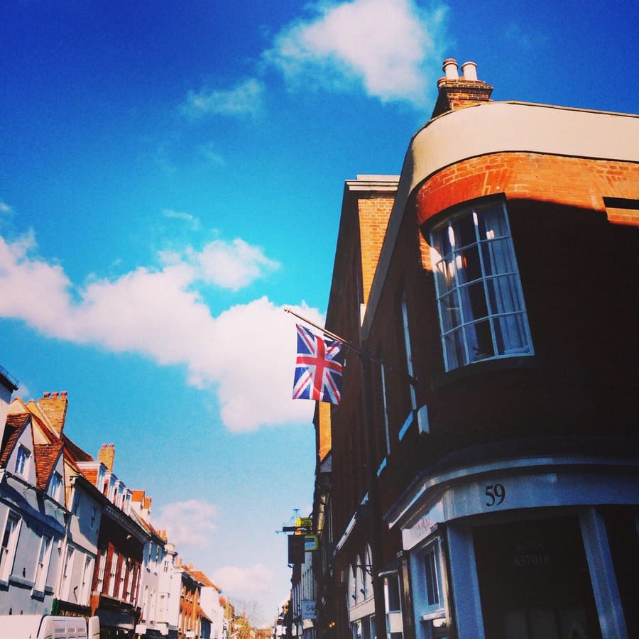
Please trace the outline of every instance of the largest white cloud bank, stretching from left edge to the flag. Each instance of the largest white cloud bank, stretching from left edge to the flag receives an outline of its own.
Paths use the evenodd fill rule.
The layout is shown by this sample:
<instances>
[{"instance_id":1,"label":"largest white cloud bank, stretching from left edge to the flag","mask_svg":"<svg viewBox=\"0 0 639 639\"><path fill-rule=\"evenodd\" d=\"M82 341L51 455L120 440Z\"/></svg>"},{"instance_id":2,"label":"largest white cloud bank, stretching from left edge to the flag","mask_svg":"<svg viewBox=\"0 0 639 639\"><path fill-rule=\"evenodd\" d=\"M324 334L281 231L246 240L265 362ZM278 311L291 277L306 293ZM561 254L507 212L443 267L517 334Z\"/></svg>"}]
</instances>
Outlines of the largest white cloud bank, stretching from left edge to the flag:
<instances>
[{"instance_id":1,"label":"largest white cloud bank, stretching from left edge to the flag","mask_svg":"<svg viewBox=\"0 0 639 639\"><path fill-rule=\"evenodd\" d=\"M238 288L261 276L274 263L260 249L214 241L200 252L165 254L160 268L139 267L83 288L60 266L31 257L34 249L33 234L13 244L0 237L0 317L48 337L185 366L192 386L217 391L224 425L234 432L310 420L312 403L290 398L293 315L261 297L213 317L195 288L202 280ZM322 322L315 309L293 310Z\"/></svg>"}]
</instances>

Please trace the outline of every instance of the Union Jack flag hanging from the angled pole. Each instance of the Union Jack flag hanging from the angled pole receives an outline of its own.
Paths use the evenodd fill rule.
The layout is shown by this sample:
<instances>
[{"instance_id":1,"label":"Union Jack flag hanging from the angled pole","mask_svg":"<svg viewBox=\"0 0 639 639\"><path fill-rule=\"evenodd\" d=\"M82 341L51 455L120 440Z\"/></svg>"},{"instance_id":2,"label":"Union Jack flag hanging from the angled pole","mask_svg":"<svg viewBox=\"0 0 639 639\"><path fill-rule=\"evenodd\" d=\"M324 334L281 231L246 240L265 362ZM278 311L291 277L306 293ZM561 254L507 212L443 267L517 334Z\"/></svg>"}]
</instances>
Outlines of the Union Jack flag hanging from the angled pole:
<instances>
[{"instance_id":1,"label":"Union Jack flag hanging from the angled pole","mask_svg":"<svg viewBox=\"0 0 639 639\"><path fill-rule=\"evenodd\" d=\"M342 398L342 342L323 339L297 324L293 399L339 404Z\"/></svg>"}]
</instances>

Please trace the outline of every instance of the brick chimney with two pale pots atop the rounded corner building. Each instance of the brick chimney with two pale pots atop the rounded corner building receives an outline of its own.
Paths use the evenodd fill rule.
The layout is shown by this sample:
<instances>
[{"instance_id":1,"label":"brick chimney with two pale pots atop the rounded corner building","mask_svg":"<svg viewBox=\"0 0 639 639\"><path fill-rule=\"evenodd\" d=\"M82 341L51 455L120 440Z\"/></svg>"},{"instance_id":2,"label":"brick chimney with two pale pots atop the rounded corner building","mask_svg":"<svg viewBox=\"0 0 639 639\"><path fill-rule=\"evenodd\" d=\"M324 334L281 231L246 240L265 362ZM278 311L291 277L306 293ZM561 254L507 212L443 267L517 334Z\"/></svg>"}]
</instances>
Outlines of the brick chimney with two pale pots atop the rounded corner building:
<instances>
[{"instance_id":1,"label":"brick chimney with two pale pots atop the rounded corner building","mask_svg":"<svg viewBox=\"0 0 639 639\"><path fill-rule=\"evenodd\" d=\"M474 62L464 62L461 65L464 75L460 76L457 60L447 58L444 60L443 71L444 77L437 81L439 96L431 118L454 109L490 102L493 85L486 84L484 80L477 80L477 65Z\"/></svg>"}]
</instances>

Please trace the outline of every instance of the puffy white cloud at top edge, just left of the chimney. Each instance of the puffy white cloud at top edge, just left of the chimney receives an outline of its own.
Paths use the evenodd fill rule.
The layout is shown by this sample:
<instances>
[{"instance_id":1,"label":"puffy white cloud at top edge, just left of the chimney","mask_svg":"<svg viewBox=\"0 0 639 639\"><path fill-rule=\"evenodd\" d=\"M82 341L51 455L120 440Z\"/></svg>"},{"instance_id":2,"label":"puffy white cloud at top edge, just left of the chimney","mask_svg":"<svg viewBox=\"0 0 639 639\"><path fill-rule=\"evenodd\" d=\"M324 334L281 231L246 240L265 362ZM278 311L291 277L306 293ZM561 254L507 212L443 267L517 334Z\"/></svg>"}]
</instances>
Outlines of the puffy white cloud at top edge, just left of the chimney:
<instances>
[{"instance_id":1,"label":"puffy white cloud at top edge, just left of the chimney","mask_svg":"<svg viewBox=\"0 0 639 639\"><path fill-rule=\"evenodd\" d=\"M264 57L293 84L344 89L354 81L383 102L422 104L434 85L445 38L444 4L354 0L312 6L312 20L290 24Z\"/></svg>"}]
</instances>

